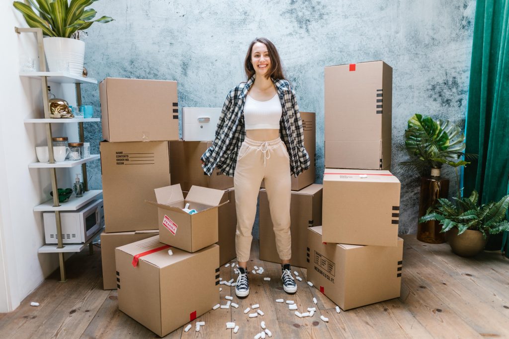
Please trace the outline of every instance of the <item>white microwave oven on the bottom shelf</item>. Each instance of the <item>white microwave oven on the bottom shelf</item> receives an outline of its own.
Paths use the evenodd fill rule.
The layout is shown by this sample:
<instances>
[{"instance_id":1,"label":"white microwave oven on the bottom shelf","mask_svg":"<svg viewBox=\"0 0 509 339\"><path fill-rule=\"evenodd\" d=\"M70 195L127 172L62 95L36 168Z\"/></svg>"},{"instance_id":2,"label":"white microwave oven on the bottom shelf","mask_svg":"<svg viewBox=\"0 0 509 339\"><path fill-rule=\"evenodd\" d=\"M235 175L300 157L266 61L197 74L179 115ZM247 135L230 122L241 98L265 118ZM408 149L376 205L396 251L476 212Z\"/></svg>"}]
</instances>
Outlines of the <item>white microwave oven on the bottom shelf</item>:
<instances>
[{"instance_id":1,"label":"white microwave oven on the bottom shelf","mask_svg":"<svg viewBox=\"0 0 509 339\"><path fill-rule=\"evenodd\" d=\"M44 212L46 243L58 243L54 212ZM93 200L75 211L60 212L63 243L83 243L104 226L102 199Z\"/></svg>"}]
</instances>

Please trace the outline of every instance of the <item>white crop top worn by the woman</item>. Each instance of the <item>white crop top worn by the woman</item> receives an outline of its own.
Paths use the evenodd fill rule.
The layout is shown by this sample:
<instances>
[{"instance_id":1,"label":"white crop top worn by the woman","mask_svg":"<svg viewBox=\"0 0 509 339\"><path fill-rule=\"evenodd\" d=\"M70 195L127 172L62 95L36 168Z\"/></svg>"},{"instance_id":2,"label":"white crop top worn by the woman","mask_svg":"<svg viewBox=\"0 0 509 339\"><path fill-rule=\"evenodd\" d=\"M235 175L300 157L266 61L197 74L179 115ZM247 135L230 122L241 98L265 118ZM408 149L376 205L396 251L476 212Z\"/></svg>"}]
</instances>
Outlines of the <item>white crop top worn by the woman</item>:
<instances>
[{"instance_id":1,"label":"white crop top worn by the woman","mask_svg":"<svg viewBox=\"0 0 509 339\"><path fill-rule=\"evenodd\" d=\"M281 114L281 102L277 93L267 101L254 100L247 95L244 103L246 130L279 130Z\"/></svg>"}]
</instances>

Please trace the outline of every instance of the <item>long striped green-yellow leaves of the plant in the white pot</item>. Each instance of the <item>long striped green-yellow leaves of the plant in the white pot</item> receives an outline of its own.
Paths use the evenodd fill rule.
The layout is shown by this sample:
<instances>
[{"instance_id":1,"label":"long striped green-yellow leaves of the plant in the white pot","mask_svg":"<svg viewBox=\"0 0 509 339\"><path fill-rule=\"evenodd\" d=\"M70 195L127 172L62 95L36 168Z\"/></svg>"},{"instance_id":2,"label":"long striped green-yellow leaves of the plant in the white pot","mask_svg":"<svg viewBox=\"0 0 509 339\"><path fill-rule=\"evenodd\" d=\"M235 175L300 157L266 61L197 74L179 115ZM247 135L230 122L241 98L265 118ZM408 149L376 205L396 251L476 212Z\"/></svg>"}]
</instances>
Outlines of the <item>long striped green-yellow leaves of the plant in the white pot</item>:
<instances>
[{"instance_id":1,"label":"long striped green-yellow leaves of the plant in the white pot","mask_svg":"<svg viewBox=\"0 0 509 339\"><path fill-rule=\"evenodd\" d=\"M13 6L23 14L30 27L41 28L43 35L48 37L71 38L77 31L89 28L94 22L114 20L109 16L92 20L97 12L86 8L97 0L71 0L70 3L68 0L28 1L31 6L19 1L15 1Z\"/></svg>"}]
</instances>

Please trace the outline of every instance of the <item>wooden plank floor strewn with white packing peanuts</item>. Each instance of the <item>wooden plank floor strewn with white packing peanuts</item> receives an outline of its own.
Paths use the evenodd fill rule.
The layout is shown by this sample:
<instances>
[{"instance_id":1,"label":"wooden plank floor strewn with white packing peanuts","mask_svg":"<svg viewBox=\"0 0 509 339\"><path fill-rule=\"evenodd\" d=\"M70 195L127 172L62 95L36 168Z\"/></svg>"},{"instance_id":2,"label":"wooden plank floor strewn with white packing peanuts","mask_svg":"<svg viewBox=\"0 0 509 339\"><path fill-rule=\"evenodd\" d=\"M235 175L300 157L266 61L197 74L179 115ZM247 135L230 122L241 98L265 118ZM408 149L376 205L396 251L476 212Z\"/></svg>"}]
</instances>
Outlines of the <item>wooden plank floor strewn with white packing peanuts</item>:
<instances>
[{"instance_id":1,"label":"wooden plank floor strewn with white packing peanuts","mask_svg":"<svg viewBox=\"0 0 509 339\"><path fill-rule=\"evenodd\" d=\"M337 314L334 303L305 282L306 270L296 268L304 279L298 292L287 295L280 286L278 264L259 258L253 243L253 265L265 269L263 275L250 274L251 292L245 299L234 288L221 285L224 296L234 297L239 308L211 311L196 321L205 321L200 332L185 333L179 328L168 338L252 338L262 329L261 321L273 338L509 338L509 260L495 253L466 259L450 252L447 244L425 244L415 235L404 235L401 297ZM14 312L0 314L0 338L153 338L153 332L118 310L117 292L103 291L100 250L88 251L67 262L68 282L58 283L55 271ZM221 267L221 278L235 277L231 267ZM270 281L263 277L269 276ZM299 311L313 307L313 318L297 318L287 304L294 300ZM40 306L30 306L37 301ZM246 307L260 304L265 315L248 318ZM253 312L253 311L251 311ZM320 320L329 318L329 323ZM225 322L240 326L239 332L225 329ZM194 325L194 321L193 321Z\"/></svg>"}]
</instances>

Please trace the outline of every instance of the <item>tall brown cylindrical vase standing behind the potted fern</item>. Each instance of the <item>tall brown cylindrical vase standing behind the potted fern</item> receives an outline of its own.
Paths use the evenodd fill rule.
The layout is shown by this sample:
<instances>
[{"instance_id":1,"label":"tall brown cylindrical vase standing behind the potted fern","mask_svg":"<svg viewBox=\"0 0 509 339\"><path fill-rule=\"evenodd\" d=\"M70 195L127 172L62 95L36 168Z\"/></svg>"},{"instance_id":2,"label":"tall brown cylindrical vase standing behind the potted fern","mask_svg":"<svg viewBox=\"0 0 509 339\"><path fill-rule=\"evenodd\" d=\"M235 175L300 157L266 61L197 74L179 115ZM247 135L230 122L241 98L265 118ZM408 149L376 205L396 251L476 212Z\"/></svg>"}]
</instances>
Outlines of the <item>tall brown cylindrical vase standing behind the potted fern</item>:
<instances>
[{"instance_id":1,"label":"tall brown cylindrical vase standing behind the potted fern","mask_svg":"<svg viewBox=\"0 0 509 339\"><path fill-rule=\"evenodd\" d=\"M449 179L441 179L440 171L438 171L437 176L422 177L420 179L418 218L425 215L426 210L435 204L438 198L447 198L448 194ZM435 220L419 223L417 225L417 240L427 243L443 243L445 242L445 233L440 233L441 229L442 225Z\"/></svg>"}]
</instances>

